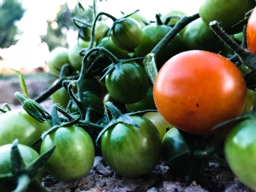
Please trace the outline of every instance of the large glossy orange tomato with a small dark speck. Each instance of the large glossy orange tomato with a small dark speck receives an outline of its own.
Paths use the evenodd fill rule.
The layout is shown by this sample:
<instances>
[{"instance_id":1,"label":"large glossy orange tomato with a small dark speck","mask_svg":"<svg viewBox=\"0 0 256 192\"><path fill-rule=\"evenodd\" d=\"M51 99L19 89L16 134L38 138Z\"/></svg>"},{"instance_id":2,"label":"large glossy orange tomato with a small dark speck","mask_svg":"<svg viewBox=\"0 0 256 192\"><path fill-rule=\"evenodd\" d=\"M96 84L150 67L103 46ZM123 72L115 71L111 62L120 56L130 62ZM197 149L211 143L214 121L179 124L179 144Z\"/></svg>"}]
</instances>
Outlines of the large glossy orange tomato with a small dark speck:
<instances>
[{"instance_id":1,"label":"large glossy orange tomato with a small dark speck","mask_svg":"<svg viewBox=\"0 0 256 192\"><path fill-rule=\"evenodd\" d=\"M163 118L198 135L213 134L212 127L239 116L246 94L244 78L231 61L199 50L182 52L167 61L153 90Z\"/></svg>"}]
</instances>

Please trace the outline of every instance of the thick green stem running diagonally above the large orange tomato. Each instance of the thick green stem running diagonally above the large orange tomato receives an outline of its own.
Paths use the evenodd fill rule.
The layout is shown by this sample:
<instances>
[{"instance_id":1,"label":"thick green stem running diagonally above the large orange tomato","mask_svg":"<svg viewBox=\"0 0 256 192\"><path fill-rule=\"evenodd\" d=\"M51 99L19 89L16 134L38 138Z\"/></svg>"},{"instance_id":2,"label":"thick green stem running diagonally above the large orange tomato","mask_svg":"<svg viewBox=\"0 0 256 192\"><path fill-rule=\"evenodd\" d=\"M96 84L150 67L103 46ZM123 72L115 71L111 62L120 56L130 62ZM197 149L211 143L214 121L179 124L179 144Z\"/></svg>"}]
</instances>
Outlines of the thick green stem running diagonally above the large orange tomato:
<instances>
[{"instance_id":1,"label":"thick green stem running diagonally above the large orange tomato","mask_svg":"<svg viewBox=\"0 0 256 192\"><path fill-rule=\"evenodd\" d=\"M178 21L172 30L166 34L166 36L154 47L151 53L155 54L155 59L161 52L161 50L168 45L172 39L177 35L187 24L191 23L193 20L199 18L199 14L195 14L189 17L184 16L180 21Z\"/></svg>"}]
</instances>

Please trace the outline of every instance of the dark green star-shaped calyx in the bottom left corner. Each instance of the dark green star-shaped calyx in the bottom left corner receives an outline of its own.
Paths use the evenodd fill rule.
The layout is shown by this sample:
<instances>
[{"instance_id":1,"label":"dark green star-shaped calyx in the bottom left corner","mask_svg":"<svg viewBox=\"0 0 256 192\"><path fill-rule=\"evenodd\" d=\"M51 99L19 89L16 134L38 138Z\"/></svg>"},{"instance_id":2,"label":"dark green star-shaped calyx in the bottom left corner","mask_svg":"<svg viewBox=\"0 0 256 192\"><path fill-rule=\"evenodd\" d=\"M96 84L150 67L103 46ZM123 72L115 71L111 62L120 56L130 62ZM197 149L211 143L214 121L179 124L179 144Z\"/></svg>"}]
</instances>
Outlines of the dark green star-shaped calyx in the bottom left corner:
<instances>
[{"instance_id":1,"label":"dark green star-shaped calyx in the bottom left corner","mask_svg":"<svg viewBox=\"0 0 256 192\"><path fill-rule=\"evenodd\" d=\"M5 189L7 190L10 186L13 186L13 183L17 183L15 191L25 191L28 188L32 188L35 191L44 192L44 187L35 177L38 169L49 160L55 147L56 146L52 147L44 154L41 154L37 160L26 167L18 149L18 140L14 140L11 149L12 173L0 175L0 188L5 191Z\"/></svg>"}]
</instances>

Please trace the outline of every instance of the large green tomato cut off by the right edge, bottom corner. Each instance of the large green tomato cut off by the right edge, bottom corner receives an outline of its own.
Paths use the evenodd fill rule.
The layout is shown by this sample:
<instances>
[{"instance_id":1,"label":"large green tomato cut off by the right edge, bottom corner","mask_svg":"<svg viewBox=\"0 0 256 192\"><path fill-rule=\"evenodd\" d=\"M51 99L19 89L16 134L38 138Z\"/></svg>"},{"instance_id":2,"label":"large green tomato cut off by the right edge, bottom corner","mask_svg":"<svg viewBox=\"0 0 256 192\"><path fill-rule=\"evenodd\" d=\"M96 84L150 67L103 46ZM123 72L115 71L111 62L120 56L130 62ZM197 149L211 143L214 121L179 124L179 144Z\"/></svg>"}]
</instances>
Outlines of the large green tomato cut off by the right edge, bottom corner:
<instances>
[{"instance_id":1,"label":"large green tomato cut off by the right edge, bottom corner","mask_svg":"<svg viewBox=\"0 0 256 192\"><path fill-rule=\"evenodd\" d=\"M225 157L239 179L256 189L256 119L238 123L225 140Z\"/></svg>"}]
</instances>

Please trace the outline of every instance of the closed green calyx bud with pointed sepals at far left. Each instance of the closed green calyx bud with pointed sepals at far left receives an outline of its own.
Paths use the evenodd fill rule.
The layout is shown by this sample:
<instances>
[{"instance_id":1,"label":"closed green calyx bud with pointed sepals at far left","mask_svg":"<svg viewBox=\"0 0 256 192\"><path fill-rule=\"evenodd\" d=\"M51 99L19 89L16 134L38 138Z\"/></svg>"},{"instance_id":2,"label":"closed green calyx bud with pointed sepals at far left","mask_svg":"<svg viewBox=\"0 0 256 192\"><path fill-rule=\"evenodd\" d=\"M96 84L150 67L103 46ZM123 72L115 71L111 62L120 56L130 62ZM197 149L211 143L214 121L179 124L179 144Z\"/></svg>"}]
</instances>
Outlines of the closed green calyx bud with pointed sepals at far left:
<instances>
[{"instance_id":1,"label":"closed green calyx bud with pointed sepals at far left","mask_svg":"<svg viewBox=\"0 0 256 192\"><path fill-rule=\"evenodd\" d=\"M49 113L45 111L45 109L37 102L35 102L33 99L27 99L23 95L21 95L19 92L15 92L14 95L20 99L22 102L23 109L34 119L37 121L43 123L46 121L47 116Z\"/></svg>"}]
</instances>

